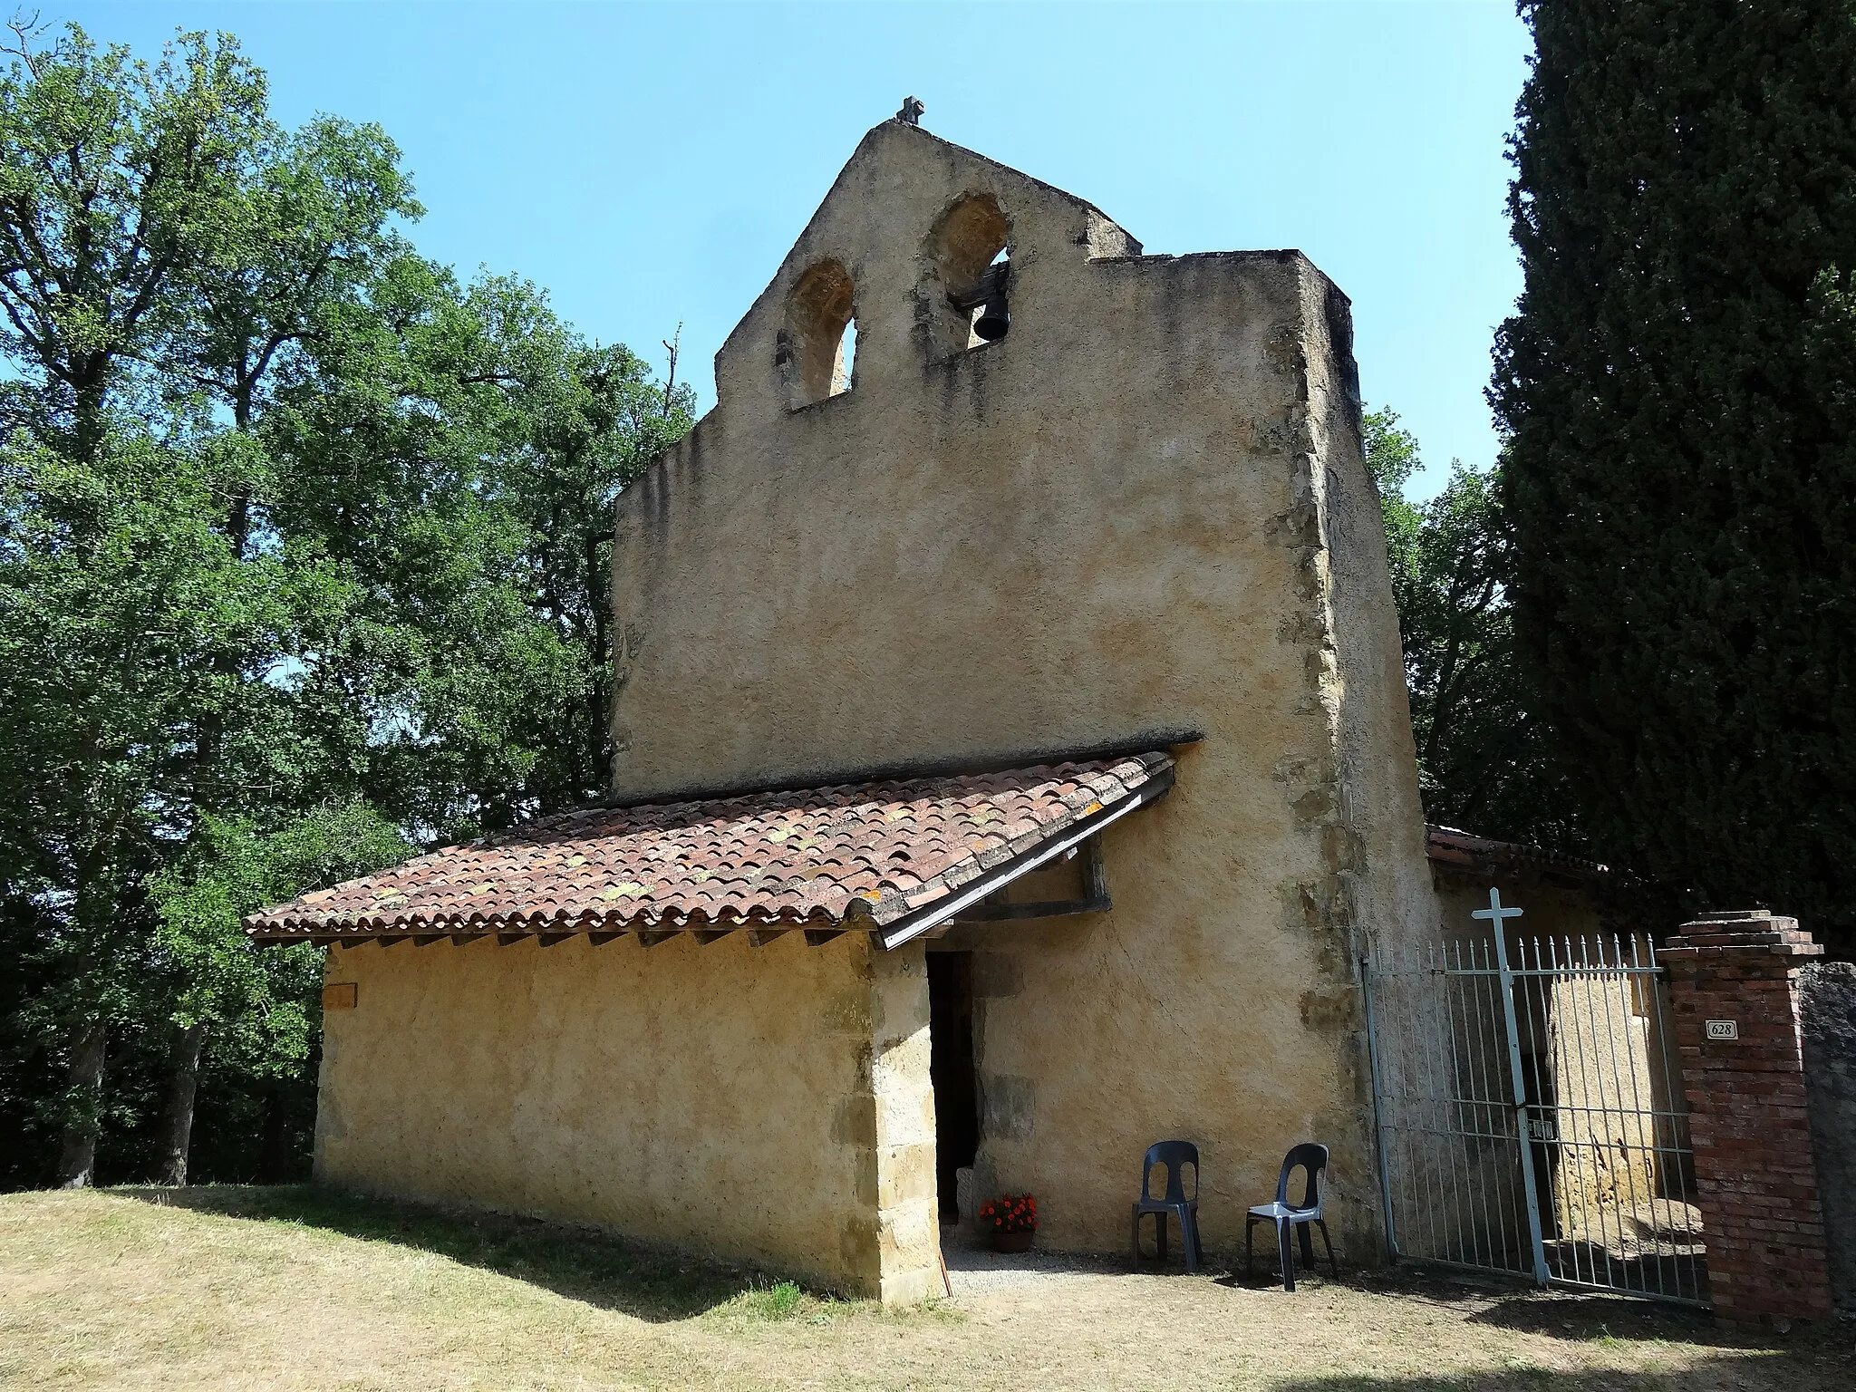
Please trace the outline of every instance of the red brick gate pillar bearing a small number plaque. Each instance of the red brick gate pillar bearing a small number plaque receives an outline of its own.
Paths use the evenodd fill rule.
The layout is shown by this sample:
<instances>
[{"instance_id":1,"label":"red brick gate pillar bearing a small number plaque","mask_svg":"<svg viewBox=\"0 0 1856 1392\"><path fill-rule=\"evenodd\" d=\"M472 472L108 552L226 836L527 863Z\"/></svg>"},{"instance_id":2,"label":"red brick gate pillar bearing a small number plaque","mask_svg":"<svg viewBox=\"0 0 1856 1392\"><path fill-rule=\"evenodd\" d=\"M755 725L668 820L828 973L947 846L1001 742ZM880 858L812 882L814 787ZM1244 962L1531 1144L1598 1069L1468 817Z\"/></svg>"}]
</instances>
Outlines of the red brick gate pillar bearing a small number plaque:
<instances>
[{"instance_id":1,"label":"red brick gate pillar bearing a small number plaque","mask_svg":"<svg viewBox=\"0 0 1856 1392\"><path fill-rule=\"evenodd\" d=\"M1823 952L1763 909L1682 924L1669 967L1708 1286L1724 1320L1832 1312L1804 1104L1798 969Z\"/></svg>"}]
</instances>

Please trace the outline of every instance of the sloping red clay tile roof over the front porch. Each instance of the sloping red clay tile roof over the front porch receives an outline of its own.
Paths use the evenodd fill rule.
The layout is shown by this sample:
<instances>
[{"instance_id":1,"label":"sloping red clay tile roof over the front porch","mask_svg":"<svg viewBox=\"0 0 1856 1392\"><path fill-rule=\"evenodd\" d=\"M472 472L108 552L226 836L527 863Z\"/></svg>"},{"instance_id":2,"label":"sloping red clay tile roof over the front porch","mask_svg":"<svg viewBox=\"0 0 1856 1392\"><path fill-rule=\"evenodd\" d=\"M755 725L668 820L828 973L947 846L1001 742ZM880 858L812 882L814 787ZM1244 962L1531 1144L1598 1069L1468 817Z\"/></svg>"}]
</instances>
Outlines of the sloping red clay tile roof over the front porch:
<instances>
[{"instance_id":1,"label":"sloping red clay tile roof over the front porch","mask_svg":"<svg viewBox=\"0 0 1856 1392\"><path fill-rule=\"evenodd\" d=\"M882 928L1030 869L1171 785L1173 759L586 807L303 895L254 937ZM861 922L852 922L854 919Z\"/></svg>"}]
</instances>

